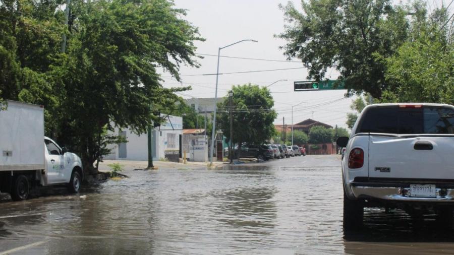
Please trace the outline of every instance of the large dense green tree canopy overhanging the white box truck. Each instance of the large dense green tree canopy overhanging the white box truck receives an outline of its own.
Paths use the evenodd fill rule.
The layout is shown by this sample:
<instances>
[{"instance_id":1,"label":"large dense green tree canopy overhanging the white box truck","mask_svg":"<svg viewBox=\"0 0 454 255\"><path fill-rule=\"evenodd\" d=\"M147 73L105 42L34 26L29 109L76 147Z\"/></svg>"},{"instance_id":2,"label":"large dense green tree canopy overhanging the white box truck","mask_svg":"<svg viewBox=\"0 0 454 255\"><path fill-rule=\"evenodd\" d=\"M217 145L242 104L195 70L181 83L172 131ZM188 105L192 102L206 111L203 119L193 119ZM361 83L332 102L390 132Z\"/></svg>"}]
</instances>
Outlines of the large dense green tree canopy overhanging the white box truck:
<instances>
[{"instance_id":1,"label":"large dense green tree canopy overhanging the white box truck","mask_svg":"<svg viewBox=\"0 0 454 255\"><path fill-rule=\"evenodd\" d=\"M1 97L44 105L46 134L89 169L106 129L145 133L180 100L173 92L188 88L163 88L157 69L178 80L182 63L197 67L193 42L203 39L167 0L73 1L68 26L60 4L0 3Z\"/></svg>"}]
</instances>

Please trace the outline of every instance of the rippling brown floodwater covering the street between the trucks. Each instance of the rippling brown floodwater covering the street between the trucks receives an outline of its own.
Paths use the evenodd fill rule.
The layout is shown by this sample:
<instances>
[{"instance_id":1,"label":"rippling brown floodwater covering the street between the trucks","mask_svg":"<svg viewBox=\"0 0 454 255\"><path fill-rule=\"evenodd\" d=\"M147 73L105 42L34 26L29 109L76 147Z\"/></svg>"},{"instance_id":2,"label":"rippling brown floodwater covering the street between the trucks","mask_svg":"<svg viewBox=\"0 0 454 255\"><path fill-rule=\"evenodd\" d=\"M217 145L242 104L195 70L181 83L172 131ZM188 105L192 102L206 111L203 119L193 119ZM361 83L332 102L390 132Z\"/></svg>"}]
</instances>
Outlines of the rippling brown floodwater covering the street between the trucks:
<instances>
[{"instance_id":1,"label":"rippling brown floodwater covering the street between the trucks","mask_svg":"<svg viewBox=\"0 0 454 255\"><path fill-rule=\"evenodd\" d=\"M127 171L78 195L0 202L0 254L427 254L454 252L430 216L366 209L344 233L338 162ZM287 161L287 162L286 162ZM251 164L253 165L253 164ZM302 166L301 166L302 165Z\"/></svg>"}]
</instances>

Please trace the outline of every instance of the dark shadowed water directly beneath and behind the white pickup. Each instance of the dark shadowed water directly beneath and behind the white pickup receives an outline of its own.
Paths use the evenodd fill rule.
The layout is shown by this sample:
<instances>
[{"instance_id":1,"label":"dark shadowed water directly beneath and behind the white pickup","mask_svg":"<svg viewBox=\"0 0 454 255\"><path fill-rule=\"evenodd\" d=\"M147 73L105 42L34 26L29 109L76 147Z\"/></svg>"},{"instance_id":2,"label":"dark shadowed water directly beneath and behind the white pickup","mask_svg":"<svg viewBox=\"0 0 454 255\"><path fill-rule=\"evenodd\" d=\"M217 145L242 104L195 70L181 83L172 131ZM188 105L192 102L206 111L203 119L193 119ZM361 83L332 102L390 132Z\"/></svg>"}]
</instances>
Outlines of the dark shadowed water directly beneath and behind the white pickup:
<instances>
[{"instance_id":1,"label":"dark shadowed water directly beneath and behind the white pickup","mask_svg":"<svg viewBox=\"0 0 454 255\"><path fill-rule=\"evenodd\" d=\"M452 225L436 220L435 214L412 218L397 209L365 209L363 228L344 231L344 239L348 254L395 253L396 249L406 254L428 254L454 248Z\"/></svg>"}]
</instances>

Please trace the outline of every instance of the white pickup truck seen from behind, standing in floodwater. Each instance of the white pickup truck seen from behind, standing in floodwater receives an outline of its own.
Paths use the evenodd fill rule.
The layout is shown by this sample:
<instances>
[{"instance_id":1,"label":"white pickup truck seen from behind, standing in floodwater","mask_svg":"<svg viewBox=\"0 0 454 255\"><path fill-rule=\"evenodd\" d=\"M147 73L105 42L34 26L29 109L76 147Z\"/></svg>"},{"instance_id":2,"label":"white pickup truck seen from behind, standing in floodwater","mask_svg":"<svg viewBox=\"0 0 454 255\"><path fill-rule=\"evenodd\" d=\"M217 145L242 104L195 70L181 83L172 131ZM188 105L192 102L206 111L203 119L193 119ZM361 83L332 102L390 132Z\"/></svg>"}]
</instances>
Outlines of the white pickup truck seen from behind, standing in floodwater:
<instances>
[{"instance_id":1,"label":"white pickup truck seen from behind, standing in floodwater","mask_svg":"<svg viewBox=\"0 0 454 255\"><path fill-rule=\"evenodd\" d=\"M372 104L358 117L342 159L344 228L360 227L364 207L434 211L452 220L454 106Z\"/></svg>"}]
</instances>

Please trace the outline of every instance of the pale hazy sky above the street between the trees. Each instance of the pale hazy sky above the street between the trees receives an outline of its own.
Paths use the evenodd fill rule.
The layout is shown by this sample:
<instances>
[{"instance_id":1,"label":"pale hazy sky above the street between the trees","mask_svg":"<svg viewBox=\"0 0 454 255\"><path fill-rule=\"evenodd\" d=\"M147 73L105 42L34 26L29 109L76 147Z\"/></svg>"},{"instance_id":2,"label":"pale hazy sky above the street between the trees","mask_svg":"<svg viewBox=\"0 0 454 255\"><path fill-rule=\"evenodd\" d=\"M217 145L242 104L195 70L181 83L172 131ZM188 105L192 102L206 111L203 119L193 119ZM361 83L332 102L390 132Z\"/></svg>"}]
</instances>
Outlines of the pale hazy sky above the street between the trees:
<instances>
[{"instance_id":1,"label":"pale hazy sky above the street between the trees","mask_svg":"<svg viewBox=\"0 0 454 255\"><path fill-rule=\"evenodd\" d=\"M253 39L258 42L246 41L224 48L220 51L221 56L279 61L221 57L220 74L275 69L293 70L219 75L217 97L225 96L232 85L252 83L268 86L278 80L288 80L277 82L269 87L274 99L274 109L278 114L275 124L281 124L282 118L285 118L287 124L291 124L292 106L294 106L293 123L312 118L332 126L347 127L346 115L348 112L354 112L350 109L350 105L356 97L345 98L346 90L293 91L294 81L307 80L307 70L298 59L286 61L286 56L279 49L279 46L285 45L286 41L274 36L283 32L285 21L283 12L278 6L286 5L287 2L285 0L175 0L176 8L187 10L187 16L183 18L198 27L200 35L206 39L203 42L195 42L196 52L213 56L204 55L203 59L199 59L200 68L182 66L180 69L182 83L164 73L162 75L164 86L191 85L192 90L179 94L184 98L214 97L216 76L200 74L216 73L219 47L243 39ZM300 8L300 0L290 2ZM431 4L434 6L436 3ZM334 80L338 73L330 70L327 76Z\"/></svg>"}]
</instances>

